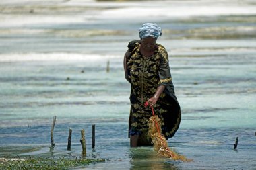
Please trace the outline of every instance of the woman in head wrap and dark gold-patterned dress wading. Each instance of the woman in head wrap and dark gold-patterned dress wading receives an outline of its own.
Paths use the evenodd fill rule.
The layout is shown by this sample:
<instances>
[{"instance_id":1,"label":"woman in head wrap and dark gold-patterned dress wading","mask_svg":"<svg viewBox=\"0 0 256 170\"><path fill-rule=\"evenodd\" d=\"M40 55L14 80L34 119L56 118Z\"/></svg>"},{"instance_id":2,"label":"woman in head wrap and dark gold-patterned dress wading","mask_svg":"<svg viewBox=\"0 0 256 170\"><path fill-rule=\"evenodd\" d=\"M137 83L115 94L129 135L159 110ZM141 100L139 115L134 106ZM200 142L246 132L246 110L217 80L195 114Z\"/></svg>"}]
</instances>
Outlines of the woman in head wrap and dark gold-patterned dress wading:
<instances>
[{"instance_id":1,"label":"woman in head wrap and dark gold-patterned dress wading","mask_svg":"<svg viewBox=\"0 0 256 170\"><path fill-rule=\"evenodd\" d=\"M162 134L174 136L181 122L181 110L174 93L168 54L156 44L162 29L153 23L139 28L141 40L129 42L124 57L125 78L131 83L129 138L131 147L152 145L147 138L151 107L161 119ZM148 102L149 107L144 103Z\"/></svg>"}]
</instances>

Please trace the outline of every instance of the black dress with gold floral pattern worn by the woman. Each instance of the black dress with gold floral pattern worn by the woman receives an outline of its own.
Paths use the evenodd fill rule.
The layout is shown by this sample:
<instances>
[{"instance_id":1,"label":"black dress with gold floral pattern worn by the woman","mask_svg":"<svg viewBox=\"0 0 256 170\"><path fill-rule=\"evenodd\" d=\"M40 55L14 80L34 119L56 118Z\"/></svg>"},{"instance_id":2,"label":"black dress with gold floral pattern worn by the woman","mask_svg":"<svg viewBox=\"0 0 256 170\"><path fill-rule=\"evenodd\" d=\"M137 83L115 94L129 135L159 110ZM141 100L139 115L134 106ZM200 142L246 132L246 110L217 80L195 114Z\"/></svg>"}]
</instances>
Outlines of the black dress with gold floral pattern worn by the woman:
<instances>
[{"instance_id":1,"label":"black dress with gold floral pattern worn by the woman","mask_svg":"<svg viewBox=\"0 0 256 170\"><path fill-rule=\"evenodd\" d=\"M131 83L129 135L146 136L152 110L146 108L144 103L154 96L159 85L166 85L154 105L154 112L161 119L162 134L168 139L174 136L181 122L181 110L174 94L168 54L163 46L157 44L154 54L146 57L139 52L140 45L139 40L128 45L131 52L127 58L127 78ZM148 142L144 141L144 144Z\"/></svg>"}]
</instances>

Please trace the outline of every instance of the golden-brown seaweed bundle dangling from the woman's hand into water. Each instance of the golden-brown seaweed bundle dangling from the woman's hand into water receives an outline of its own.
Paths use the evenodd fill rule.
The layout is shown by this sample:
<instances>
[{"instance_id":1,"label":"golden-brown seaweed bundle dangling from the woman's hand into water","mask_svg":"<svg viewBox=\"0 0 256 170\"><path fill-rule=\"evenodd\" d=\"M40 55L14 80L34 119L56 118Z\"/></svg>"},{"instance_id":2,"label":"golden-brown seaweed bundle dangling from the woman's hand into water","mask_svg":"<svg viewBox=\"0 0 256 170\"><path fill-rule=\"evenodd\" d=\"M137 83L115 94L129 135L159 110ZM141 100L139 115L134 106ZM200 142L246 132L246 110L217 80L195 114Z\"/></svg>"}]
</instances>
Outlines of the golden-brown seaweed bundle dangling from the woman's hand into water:
<instances>
[{"instance_id":1,"label":"golden-brown seaweed bundle dangling from the woman's hand into water","mask_svg":"<svg viewBox=\"0 0 256 170\"><path fill-rule=\"evenodd\" d=\"M191 159L187 159L185 156L179 155L168 147L166 138L161 134L162 129L160 128L160 124L161 120L158 116L151 116L148 121L148 137L152 139L154 150L157 151L158 155L162 157L169 157L174 160L191 161Z\"/></svg>"}]
</instances>

